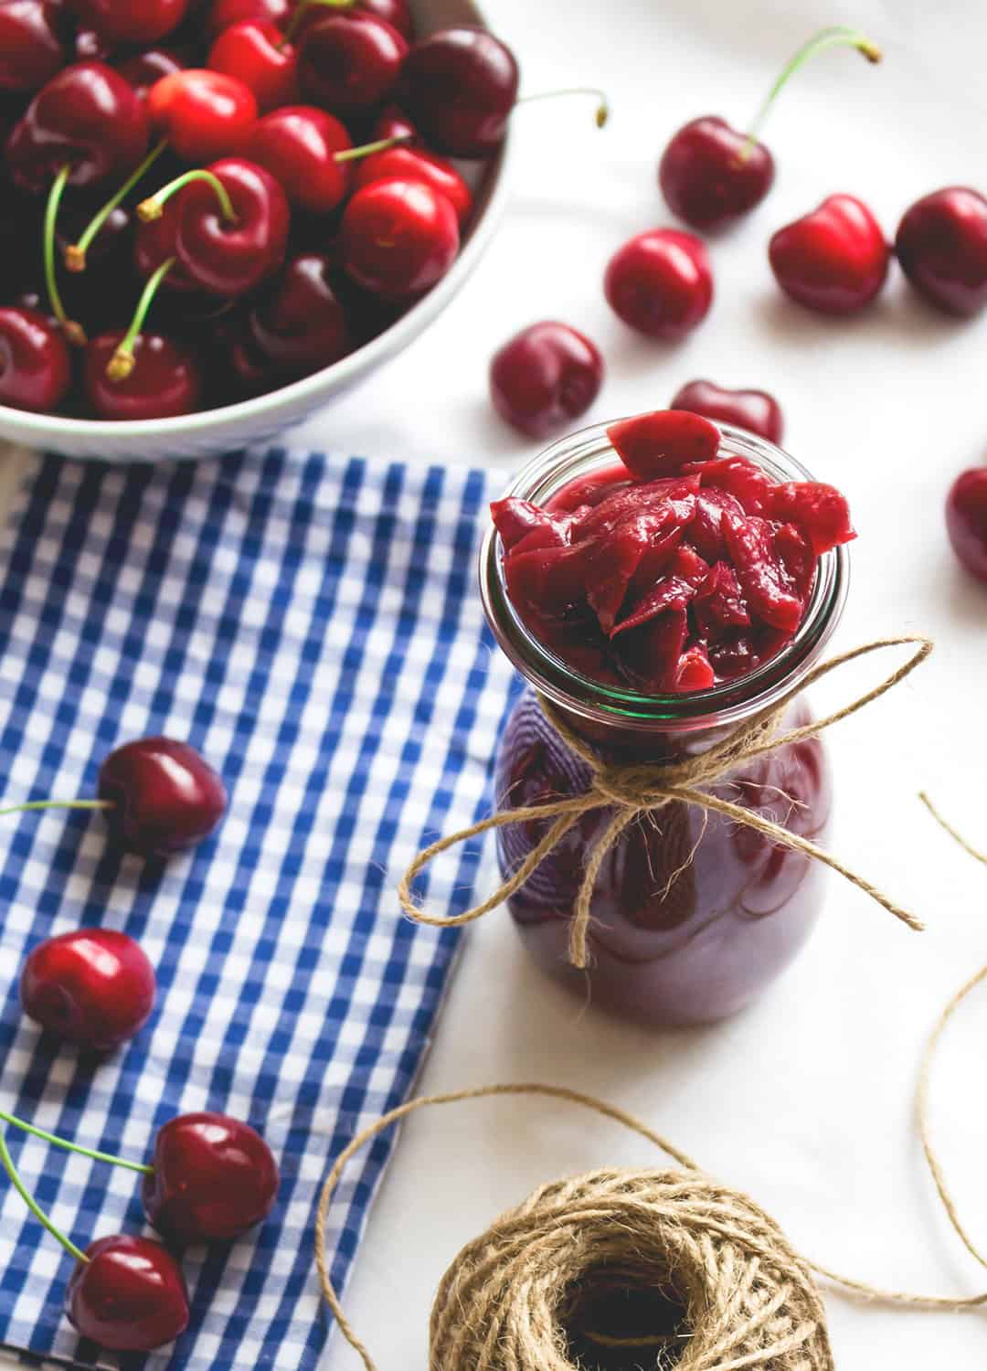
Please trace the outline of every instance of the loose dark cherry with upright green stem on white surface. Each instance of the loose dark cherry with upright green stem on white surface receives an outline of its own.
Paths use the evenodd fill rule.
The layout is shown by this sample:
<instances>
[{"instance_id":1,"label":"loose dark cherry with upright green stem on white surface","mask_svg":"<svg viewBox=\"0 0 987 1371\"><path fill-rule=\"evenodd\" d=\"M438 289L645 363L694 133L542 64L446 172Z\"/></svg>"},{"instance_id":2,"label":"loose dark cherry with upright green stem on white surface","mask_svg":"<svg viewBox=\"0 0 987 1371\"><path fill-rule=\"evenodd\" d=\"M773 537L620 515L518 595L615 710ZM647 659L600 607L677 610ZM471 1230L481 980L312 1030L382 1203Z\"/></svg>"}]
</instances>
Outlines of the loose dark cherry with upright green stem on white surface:
<instances>
[{"instance_id":1,"label":"loose dark cherry with upright green stem on white surface","mask_svg":"<svg viewBox=\"0 0 987 1371\"><path fill-rule=\"evenodd\" d=\"M759 204L775 181L764 143L748 147L725 119L706 115L679 129L658 167L669 208L694 229L721 229Z\"/></svg>"}]
</instances>

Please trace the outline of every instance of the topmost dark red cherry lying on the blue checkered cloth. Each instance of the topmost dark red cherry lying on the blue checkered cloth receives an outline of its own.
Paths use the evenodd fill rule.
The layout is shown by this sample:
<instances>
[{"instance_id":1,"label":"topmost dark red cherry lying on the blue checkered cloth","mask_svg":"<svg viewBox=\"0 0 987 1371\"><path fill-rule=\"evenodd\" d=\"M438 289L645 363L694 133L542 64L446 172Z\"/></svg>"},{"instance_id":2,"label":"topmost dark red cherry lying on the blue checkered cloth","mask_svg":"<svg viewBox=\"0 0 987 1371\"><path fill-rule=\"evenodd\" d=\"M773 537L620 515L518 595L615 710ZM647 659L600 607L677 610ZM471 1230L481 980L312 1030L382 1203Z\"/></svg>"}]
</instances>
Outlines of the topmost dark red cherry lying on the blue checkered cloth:
<instances>
[{"instance_id":1,"label":"topmost dark red cherry lying on the blue checkered cloth","mask_svg":"<svg viewBox=\"0 0 987 1371\"><path fill-rule=\"evenodd\" d=\"M99 798L110 801L110 829L123 847L169 857L202 843L226 810L226 788L188 743L141 738L103 762Z\"/></svg>"}]
</instances>

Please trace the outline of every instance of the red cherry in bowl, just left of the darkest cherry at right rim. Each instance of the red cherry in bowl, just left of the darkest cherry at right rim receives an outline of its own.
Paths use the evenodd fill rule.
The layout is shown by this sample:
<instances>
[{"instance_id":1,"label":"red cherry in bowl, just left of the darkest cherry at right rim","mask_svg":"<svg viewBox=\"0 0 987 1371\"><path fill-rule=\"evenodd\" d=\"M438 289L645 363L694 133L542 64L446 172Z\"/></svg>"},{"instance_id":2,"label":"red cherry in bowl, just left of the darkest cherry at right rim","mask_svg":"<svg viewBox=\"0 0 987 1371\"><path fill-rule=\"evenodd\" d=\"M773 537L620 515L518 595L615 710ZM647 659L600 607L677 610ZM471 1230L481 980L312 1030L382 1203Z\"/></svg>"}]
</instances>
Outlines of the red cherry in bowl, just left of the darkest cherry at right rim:
<instances>
[{"instance_id":1,"label":"red cherry in bowl, just left of the darkest cherry at right rim","mask_svg":"<svg viewBox=\"0 0 987 1371\"><path fill-rule=\"evenodd\" d=\"M370 14L319 19L299 48L302 93L333 114L365 114L389 97L407 51L400 33Z\"/></svg>"}]
</instances>

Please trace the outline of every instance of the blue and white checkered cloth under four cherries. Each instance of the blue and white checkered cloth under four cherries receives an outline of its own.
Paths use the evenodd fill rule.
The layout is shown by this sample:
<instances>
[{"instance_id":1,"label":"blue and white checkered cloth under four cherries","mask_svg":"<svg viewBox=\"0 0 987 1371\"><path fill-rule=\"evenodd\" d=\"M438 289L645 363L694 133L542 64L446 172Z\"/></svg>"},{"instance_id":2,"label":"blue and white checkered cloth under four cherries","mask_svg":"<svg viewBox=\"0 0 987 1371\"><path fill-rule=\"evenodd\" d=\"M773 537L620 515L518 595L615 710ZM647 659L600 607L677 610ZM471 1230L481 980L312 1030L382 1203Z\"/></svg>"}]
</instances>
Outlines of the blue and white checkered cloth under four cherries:
<instances>
[{"instance_id":1,"label":"blue and white checkered cloth under four cherries","mask_svg":"<svg viewBox=\"0 0 987 1371\"><path fill-rule=\"evenodd\" d=\"M476 591L492 478L284 451L156 469L40 461L0 537L0 794L92 795L103 757L188 739L229 814L167 864L99 816L0 820L0 1101L144 1158L175 1113L249 1120L282 1168L270 1220L184 1267L189 1333L155 1371L310 1368L329 1333L313 1267L319 1183L411 1090L456 934L399 916L424 840L488 810L511 691ZM481 853L432 879L467 908ZM148 1027L93 1067L52 1050L18 968L80 924L136 936ZM22 1175L85 1246L141 1231L136 1178L11 1132ZM343 1282L392 1139L354 1161L329 1224ZM62 1316L71 1259L0 1179L0 1341L106 1361ZM141 1366L144 1359L123 1359Z\"/></svg>"}]
</instances>

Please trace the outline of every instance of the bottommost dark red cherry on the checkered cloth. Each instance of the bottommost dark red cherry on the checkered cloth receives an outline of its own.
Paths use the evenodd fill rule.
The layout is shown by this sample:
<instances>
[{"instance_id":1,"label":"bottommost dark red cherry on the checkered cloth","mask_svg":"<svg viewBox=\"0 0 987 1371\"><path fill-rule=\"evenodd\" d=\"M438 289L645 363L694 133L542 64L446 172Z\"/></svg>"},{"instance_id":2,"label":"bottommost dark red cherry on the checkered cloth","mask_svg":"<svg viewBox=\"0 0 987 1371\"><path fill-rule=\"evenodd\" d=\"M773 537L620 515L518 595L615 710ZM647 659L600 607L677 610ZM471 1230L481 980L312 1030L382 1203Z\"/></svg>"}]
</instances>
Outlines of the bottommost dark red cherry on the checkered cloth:
<instances>
[{"instance_id":1,"label":"bottommost dark red cherry on the checkered cloth","mask_svg":"<svg viewBox=\"0 0 987 1371\"><path fill-rule=\"evenodd\" d=\"M111 1352L154 1352L185 1331L185 1278L151 1238L99 1238L73 1271L66 1313L84 1338Z\"/></svg>"}]
</instances>

